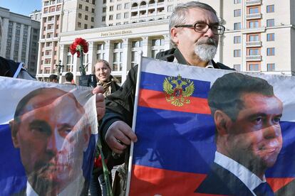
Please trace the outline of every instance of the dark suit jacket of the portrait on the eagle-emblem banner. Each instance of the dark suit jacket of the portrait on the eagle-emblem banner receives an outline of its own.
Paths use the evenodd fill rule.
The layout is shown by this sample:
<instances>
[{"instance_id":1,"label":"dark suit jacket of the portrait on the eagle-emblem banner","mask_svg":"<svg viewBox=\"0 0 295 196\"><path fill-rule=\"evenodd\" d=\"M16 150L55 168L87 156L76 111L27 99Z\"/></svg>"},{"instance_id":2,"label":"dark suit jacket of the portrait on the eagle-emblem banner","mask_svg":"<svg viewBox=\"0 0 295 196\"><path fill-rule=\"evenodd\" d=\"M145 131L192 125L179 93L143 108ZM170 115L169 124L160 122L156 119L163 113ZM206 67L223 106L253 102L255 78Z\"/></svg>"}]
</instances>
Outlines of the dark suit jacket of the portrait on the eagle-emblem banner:
<instances>
[{"instance_id":1,"label":"dark suit jacket of the portrait on the eagle-emblem banner","mask_svg":"<svg viewBox=\"0 0 295 196\"><path fill-rule=\"evenodd\" d=\"M195 192L216 195L253 195L239 178L216 163L213 163L207 177Z\"/></svg>"}]
</instances>

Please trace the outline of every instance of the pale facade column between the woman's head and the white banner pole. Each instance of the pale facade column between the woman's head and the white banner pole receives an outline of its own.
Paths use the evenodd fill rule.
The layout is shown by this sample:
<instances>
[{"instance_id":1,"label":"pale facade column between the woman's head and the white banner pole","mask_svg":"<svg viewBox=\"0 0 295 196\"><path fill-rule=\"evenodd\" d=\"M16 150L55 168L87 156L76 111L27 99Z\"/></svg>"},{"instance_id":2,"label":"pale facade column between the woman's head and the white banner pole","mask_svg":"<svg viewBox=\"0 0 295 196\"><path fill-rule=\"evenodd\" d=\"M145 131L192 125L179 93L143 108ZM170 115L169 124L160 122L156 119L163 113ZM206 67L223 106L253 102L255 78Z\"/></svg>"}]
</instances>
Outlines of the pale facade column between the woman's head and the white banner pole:
<instances>
[{"instance_id":1,"label":"pale facade column between the woman's head and the white banner pole","mask_svg":"<svg viewBox=\"0 0 295 196\"><path fill-rule=\"evenodd\" d=\"M123 39L123 65L122 65L122 84L125 82L127 73L131 69L131 48L130 40L128 38Z\"/></svg>"}]
</instances>

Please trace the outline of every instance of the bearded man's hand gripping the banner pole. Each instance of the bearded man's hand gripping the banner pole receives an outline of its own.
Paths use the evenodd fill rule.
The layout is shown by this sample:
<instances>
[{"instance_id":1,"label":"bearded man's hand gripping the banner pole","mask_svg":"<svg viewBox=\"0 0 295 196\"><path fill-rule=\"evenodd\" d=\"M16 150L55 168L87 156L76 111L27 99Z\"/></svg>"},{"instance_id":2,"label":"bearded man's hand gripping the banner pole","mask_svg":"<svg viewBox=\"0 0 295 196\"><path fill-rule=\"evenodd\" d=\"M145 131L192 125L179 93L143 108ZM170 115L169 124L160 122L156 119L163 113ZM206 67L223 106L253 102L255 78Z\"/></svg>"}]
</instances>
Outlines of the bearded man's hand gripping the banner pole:
<instances>
[{"instance_id":1,"label":"bearded man's hand gripping the banner pole","mask_svg":"<svg viewBox=\"0 0 295 196\"><path fill-rule=\"evenodd\" d=\"M105 141L113 152L120 154L123 153L126 145L130 145L131 141L138 141L138 138L128 124L123 121L115 121L108 128Z\"/></svg>"}]
</instances>

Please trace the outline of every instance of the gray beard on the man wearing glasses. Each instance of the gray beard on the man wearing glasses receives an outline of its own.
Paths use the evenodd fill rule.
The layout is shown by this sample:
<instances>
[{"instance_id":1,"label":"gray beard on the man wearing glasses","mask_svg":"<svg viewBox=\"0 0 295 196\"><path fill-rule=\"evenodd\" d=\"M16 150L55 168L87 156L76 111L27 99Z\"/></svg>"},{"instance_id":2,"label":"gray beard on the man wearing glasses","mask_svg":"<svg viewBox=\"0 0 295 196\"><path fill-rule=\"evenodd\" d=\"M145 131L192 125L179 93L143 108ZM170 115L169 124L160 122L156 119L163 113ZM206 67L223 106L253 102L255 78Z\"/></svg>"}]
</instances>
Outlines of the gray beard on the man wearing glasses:
<instances>
[{"instance_id":1,"label":"gray beard on the man wearing glasses","mask_svg":"<svg viewBox=\"0 0 295 196\"><path fill-rule=\"evenodd\" d=\"M195 54L204 62L212 60L216 52L217 47L215 45L200 44L195 47Z\"/></svg>"}]
</instances>

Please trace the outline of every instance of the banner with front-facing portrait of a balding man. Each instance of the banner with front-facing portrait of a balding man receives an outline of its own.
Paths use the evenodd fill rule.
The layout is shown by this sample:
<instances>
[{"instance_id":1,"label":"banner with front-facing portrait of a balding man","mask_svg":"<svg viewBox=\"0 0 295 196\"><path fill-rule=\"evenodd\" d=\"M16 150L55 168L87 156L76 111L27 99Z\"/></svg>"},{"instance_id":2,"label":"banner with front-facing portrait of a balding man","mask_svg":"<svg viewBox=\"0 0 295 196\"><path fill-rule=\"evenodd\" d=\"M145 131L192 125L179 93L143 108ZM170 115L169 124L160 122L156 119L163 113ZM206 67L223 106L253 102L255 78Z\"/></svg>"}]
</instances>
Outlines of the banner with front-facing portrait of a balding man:
<instances>
[{"instance_id":1,"label":"banner with front-facing portrait of a balding man","mask_svg":"<svg viewBox=\"0 0 295 196\"><path fill-rule=\"evenodd\" d=\"M0 195L84 195L98 136L95 96L0 77Z\"/></svg>"}]
</instances>

